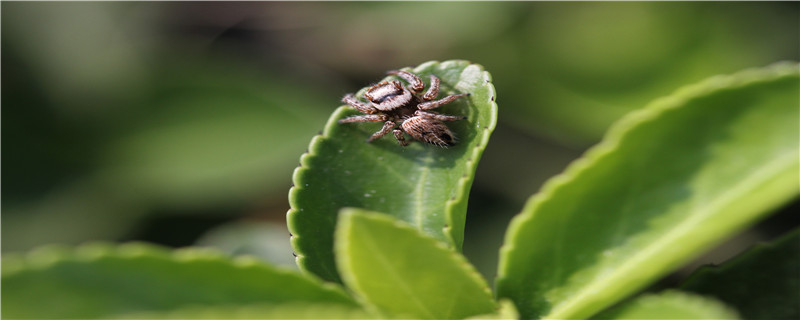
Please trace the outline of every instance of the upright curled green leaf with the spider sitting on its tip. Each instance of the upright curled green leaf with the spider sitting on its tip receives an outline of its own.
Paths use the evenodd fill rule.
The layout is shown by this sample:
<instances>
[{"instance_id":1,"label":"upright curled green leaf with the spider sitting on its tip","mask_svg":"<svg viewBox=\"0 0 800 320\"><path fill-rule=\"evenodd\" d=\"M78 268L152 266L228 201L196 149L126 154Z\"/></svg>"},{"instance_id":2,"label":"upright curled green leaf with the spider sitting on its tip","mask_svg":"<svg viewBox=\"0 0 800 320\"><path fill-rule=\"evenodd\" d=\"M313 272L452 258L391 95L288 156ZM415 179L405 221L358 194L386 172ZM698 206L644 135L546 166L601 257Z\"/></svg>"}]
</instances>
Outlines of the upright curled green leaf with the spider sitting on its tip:
<instances>
[{"instance_id":1,"label":"upright curled green leaf with the spider sitting on its tip","mask_svg":"<svg viewBox=\"0 0 800 320\"><path fill-rule=\"evenodd\" d=\"M428 62L412 71L426 83L429 75L438 76L440 97L471 94L437 109L467 116L448 124L459 142L450 148L418 141L402 147L389 134L367 143L382 124L338 124L337 120L360 113L348 106L337 109L300 158L289 191L287 221L302 270L339 281L332 241L343 207L388 212L461 249L467 194L497 118L494 87L488 72L467 61ZM364 90L357 96L362 97Z\"/></svg>"}]
</instances>

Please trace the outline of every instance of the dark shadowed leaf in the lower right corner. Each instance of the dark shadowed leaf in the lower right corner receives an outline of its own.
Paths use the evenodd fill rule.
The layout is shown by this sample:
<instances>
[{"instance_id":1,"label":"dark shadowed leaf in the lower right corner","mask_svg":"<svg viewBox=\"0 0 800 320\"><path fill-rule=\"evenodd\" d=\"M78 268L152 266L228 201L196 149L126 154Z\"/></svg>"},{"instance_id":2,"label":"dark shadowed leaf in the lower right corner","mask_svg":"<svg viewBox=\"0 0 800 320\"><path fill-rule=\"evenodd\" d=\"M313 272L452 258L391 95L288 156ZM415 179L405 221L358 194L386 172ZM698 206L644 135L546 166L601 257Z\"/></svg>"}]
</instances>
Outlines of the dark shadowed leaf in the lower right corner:
<instances>
[{"instance_id":1,"label":"dark shadowed leaf in the lower right corner","mask_svg":"<svg viewBox=\"0 0 800 320\"><path fill-rule=\"evenodd\" d=\"M800 319L800 230L701 268L681 288L735 306L746 319Z\"/></svg>"}]
</instances>

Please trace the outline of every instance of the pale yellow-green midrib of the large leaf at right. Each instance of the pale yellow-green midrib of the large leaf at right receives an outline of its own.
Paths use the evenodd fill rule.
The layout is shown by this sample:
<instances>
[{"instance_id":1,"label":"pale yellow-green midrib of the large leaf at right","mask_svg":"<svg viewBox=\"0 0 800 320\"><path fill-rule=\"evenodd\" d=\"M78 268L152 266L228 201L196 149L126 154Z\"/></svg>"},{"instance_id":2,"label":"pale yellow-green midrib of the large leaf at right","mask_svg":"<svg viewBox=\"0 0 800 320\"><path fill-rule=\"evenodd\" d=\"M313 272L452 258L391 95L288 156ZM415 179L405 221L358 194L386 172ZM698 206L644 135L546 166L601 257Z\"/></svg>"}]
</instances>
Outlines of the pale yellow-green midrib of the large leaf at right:
<instances>
[{"instance_id":1,"label":"pale yellow-green midrib of the large leaf at right","mask_svg":"<svg viewBox=\"0 0 800 320\"><path fill-rule=\"evenodd\" d=\"M553 311L544 318L575 318L576 314L579 314L582 311L581 309L585 304L584 302L587 300L591 301L591 298L589 297L592 297L597 293L612 290L612 288L615 288L615 284L620 283L618 279L621 275L631 274L638 266L642 264L643 261L652 259L659 253L665 252L668 247L670 247L676 241L676 239L679 239L681 236L685 235L687 230L691 230L691 226L705 220L708 217L708 214L705 214L706 212L716 212L720 208L724 208L726 205L735 201L735 199L737 199L743 193L746 193L748 190L750 190L750 188L747 186L762 185L764 182L769 181L773 177L779 175L781 172L784 172L786 169L796 165L796 150L793 149L792 151L793 152L786 152L781 157L776 157L775 160L770 161L765 166L755 170L752 174L750 174L749 177L740 180L738 184L727 189L728 192L722 193L716 197L716 201L709 202L708 205L693 210L694 212L699 212L700 214L690 214L689 219L684 220L676 227L672 228L657 241L652 242L650 245L642 248L642 250L639 250L637 254L627 259L624 264L621 264L615 268L613 273L608 276L604 276L599 280L594 280L590 282L589 285L584 286L581 290L571 294L569 299L563 301L558 306L553 308Z\"/></svg>"}]
</instances>

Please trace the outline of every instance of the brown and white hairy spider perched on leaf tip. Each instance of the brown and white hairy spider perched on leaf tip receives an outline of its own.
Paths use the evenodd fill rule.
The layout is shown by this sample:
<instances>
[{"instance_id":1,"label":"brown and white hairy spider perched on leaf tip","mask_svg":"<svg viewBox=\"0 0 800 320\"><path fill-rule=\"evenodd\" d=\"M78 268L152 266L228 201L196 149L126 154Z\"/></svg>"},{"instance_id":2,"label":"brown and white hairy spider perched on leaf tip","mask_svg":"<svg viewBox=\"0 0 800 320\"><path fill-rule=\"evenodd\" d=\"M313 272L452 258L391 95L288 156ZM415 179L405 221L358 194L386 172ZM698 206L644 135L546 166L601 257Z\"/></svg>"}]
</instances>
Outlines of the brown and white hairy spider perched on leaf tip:
<instances>
[{"instance_id":1,"label":"brown and white hairy spider perched on leaf tip","mask_svg":"<svg viewBox=\"0 0 800 320\"><path fill-rule=\"evenodd\" d=\"M440 147L454 145L455 136L442 121L464 120L467 117L448 116L428 110L441 107L469 93L454 94L434 100L439 95L440 81L436 76L431 75L428 91L420 96L425 84L419 76L401 70L392 70L387 74L403 78L409 86L403 86L400 81L378 83L367 89L364 94L369 100L368 104L356 100L353 94L344 96L342 102L366 115L344 118L339 120L339 123L383 122L383 128L370 136L367 142L375 141L391 131L401 146L408 145L404 132L414 139Z\"/></svg>"}]
</instances>

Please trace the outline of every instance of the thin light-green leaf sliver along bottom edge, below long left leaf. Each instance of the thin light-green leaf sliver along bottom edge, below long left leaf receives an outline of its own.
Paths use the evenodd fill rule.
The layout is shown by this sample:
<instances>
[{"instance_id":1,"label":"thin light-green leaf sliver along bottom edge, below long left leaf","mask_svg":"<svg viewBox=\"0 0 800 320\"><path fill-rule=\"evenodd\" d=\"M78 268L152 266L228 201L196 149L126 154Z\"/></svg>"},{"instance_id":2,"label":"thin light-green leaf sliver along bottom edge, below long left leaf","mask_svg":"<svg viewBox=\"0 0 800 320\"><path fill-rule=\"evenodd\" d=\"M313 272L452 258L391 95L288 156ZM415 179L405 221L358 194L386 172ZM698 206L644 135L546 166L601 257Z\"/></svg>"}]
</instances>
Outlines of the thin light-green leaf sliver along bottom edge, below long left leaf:
<instances>
[{"instance_id":1,"label":"thin light-green leaf sliver along bottom edge, below long left leaf","mask_svg":"<svg viewBox=\"0 0 800 320\"><path fill-rule=\"evenodd\" d=\"M282 303L246 306L193 306L167 312L126 314L120 319L375 319L366 311L340 304Z\"/></svg>"}]
</instances>

